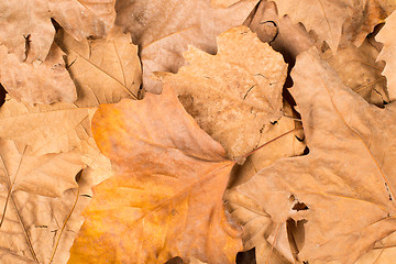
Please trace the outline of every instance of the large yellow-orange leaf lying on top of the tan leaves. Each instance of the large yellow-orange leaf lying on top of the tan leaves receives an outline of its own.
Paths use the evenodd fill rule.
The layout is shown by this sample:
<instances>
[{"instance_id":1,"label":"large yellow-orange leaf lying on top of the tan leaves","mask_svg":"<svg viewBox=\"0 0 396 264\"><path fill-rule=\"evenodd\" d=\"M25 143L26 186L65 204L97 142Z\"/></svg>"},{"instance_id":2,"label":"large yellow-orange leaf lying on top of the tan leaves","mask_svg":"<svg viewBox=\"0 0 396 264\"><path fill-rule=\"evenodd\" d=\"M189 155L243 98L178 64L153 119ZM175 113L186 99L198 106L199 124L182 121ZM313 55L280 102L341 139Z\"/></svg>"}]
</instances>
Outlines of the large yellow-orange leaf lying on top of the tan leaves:
<instances>
[{"instance_id":1,"label":"large yellow-orange leaf lying on top of the tan leaves","mask_svg":"<svg viewBox=\"0 0 396 264\"><path fill-rule=\"evenodd\" d=\"M100 106L92 131L116 176L94 188L69 263L164 263L173 256L232 263L240 231L226 216L222 195L234 163L172 89Z\"/></svg>"}]
</instances>

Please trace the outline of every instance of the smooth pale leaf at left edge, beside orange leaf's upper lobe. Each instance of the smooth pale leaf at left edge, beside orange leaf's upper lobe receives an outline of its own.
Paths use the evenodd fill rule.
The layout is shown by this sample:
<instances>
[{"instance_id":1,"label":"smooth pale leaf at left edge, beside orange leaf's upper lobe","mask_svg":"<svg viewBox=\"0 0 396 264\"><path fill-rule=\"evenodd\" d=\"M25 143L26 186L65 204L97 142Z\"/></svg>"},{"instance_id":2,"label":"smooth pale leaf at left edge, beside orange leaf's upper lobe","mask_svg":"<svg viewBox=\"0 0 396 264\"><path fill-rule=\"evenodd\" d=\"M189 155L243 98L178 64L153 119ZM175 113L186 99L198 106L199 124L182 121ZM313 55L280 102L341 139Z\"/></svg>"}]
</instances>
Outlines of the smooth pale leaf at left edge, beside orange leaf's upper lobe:
<instances>
[{"instance_id":1,"label":"smooth pale leaf at left edge, beside orange leaf's upper lobe","mask_svg":"<svg viewBox=\"0 0 396 264\"><path fill-rule=\"evenodd\" d=\"M32 107L8 98L0 108L0 138L28 145L28 154L82 150L91 135L90 114L95 110L61 102Z\"/></svg>"}]
</instances>

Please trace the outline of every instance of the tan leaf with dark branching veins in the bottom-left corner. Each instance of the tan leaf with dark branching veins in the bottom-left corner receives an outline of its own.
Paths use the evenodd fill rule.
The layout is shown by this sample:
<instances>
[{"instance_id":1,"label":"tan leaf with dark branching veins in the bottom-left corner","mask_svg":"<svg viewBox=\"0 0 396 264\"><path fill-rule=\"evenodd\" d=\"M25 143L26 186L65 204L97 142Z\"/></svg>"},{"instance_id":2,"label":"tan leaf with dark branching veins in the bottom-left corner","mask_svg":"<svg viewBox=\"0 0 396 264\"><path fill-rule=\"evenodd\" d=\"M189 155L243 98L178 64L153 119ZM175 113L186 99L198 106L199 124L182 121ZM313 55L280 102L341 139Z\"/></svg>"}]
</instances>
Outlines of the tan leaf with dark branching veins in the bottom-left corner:
<instances>
[{"instance_id":1,"label":"tan leaf with dark branching veins in the bottom-left corner","mask_svg":"<svg viewBox=\"0 0 396 264\"><path fill-rule=\"evenodd\" d=\"M1 208L8 188L0 185ZM0 262L50 263L54 253L52 263L66 263L68 249L82 224L79 215L88 204L87 197L77 195L76 189L65 191L59 198L22 190L13 193L0 229Z\"/></svg>"}]
</instances>

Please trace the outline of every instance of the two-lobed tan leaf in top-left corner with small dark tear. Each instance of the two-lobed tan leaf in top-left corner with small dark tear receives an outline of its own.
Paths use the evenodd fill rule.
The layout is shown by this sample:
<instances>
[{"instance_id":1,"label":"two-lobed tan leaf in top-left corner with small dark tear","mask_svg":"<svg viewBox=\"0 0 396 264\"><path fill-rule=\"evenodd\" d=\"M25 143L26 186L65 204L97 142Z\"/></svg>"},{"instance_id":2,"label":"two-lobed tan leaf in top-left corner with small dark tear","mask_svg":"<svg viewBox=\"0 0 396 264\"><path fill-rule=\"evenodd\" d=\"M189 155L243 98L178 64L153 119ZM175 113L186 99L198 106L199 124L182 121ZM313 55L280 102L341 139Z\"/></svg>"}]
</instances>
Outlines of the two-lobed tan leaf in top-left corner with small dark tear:
<instances>
[{"instance_id":1,"label":"two-lobed tan leaf in top-left corner with small dark tear","mask_svg":"<svg viewBox=\"0 0 396 264\"><path fill-rule=\"evenodd\" d=\"M2 0L0 44L19 61L43 62L54 41L55 19L77 40L105 36L113 26L116 0Z\"/></svg>"}]
</instances>

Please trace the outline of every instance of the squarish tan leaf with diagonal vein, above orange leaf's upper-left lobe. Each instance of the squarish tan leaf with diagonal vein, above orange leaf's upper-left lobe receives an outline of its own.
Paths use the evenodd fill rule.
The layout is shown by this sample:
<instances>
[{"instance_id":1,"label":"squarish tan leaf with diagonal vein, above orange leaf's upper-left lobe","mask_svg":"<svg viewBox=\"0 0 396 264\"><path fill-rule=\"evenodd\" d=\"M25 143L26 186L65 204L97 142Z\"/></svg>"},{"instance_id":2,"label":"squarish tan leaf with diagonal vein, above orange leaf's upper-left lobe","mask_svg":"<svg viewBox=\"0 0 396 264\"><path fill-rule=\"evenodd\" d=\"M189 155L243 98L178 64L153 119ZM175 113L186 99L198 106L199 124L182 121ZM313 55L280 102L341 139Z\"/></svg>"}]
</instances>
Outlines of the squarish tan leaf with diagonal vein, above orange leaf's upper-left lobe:
<instances>
[{"instance_id":1,"label":"squarish tan leaf with diagonal vein, above orange leaf's upper-left lobe","mask_svg":"<svg viewBox=\"0 0 396 264\"><path fill-rule=\"evenodd\" d=\"M77 86L78 107L138 97L142 78L138 46L120 28L114 26L106 38L80 42L59 31L56 42L67 54L68 70Z\"/></svg>"}]
</instances>

